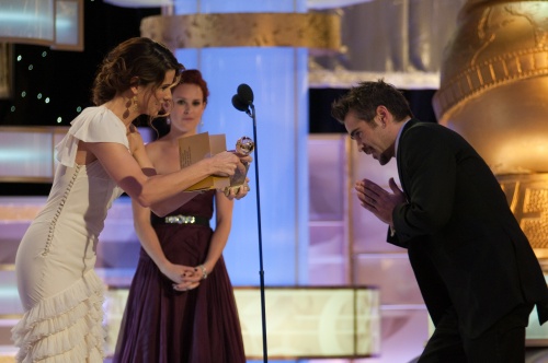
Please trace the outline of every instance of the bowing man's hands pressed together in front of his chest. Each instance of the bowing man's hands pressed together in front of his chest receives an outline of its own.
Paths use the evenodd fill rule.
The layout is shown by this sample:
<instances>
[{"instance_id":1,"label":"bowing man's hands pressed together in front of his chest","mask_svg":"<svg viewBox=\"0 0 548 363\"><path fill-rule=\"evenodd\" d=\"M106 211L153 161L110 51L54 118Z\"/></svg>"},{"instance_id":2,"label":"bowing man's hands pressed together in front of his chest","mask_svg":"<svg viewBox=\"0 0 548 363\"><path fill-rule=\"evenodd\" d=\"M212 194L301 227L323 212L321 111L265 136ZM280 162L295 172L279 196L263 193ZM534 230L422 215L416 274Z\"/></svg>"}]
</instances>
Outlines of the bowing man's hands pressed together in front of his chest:
<instances>
[{"instance_id":1,"label":"bowing man's hands pressed together in front of his chest","mask_svg":"<svg viewBox=\"0 0 548 363\"><path fill-rule=\"evenodd\" d=\"M369 179L356 182L354 188L357 192L362 207L375 214L380 221L393 227L392 211L396 206L407 201L406 195L393 182L388 180L388 186L392 192L383 189Z\"/></svg>"}]
</instances>

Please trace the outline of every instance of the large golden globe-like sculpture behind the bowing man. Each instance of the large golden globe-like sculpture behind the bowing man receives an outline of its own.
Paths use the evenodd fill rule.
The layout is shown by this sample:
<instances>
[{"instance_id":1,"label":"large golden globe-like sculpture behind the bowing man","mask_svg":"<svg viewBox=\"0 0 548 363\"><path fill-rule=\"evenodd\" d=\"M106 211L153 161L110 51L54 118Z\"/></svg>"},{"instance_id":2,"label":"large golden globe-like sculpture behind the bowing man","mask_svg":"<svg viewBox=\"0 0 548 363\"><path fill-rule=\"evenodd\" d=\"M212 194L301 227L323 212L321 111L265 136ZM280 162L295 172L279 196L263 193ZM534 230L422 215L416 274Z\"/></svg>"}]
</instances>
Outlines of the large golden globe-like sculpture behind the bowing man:
<instances>
[{"instance_id":1,"label":"large golden globe-like sculpture behind the bowing man","mask_svg":"<svg viewBox=\"0 0 548 363\"><path fill-rule=\"evenodd\" d=\"M467 1L441 73L439 124L481 154L548 257L548 1Z\"/></svg>"}]
</instances>

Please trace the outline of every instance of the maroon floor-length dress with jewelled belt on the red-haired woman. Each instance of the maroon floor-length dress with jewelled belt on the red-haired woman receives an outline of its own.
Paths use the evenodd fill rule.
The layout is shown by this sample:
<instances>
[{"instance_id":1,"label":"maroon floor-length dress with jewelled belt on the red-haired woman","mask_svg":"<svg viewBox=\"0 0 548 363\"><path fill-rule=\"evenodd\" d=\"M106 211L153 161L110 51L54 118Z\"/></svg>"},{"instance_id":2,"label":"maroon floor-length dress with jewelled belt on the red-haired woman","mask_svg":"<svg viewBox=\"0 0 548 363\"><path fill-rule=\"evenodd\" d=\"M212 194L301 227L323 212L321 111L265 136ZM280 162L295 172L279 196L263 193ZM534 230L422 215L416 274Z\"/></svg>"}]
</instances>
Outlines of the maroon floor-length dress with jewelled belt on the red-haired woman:
<instances>
[{"instance_id":1,"label":"maroon floor-length dress with jewelled belt on the red-haired woman","mask_svg":"<svg viewBox=\"0 0 548 363\"><path fill-rule=\"evenodd\" d=\"M215 191L198 195L173 214L210 219ZM204 262L213 231L199 224L153 224L170 261ZM232 285L222 257L197 289L176 292L141 248L114 363L244 363Z\"/></svg>"}]
</instances>

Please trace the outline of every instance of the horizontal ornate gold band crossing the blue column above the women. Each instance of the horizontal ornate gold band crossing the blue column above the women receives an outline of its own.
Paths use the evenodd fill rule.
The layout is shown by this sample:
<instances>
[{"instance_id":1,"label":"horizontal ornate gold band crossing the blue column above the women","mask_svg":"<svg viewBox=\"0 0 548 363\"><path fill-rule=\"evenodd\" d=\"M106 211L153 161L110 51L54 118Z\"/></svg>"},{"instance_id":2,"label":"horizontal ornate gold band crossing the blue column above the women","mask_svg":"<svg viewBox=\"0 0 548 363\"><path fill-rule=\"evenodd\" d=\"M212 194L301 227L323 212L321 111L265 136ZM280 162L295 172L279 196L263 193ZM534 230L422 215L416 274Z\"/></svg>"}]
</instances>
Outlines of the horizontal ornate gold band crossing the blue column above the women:
<instances>
[{"instance_id":1,"label":"horizontal ornate gold band crossing the blue column above the women","mask_svg":"<svg viewBox=\"0 0 548 363\"><path fill-rule=\"evenodd\" d=\"M305 47L341 49L341 21L327 13L218 13L148 16L141 36L170 49L208 47Z\"/></svg>"}]
</instances>

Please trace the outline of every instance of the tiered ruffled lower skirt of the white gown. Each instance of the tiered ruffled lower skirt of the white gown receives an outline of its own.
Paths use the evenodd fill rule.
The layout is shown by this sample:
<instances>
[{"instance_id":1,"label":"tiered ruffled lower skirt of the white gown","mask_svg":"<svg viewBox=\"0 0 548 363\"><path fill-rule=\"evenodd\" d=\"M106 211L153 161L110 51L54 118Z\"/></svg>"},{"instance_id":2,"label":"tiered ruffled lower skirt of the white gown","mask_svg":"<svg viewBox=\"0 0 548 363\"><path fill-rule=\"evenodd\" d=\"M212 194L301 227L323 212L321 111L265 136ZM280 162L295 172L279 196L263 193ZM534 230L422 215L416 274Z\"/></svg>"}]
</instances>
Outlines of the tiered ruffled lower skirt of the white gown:
<instances>
[{"instance_id":1,"label":"tiered ruffled lower skirt of the white gown","mask_svg":"<svg viewBox=\"0 0 548 363\"><path fill-rule=\"evenodd\" d=\"M104 284L93 270L37 303L11 330L22 363L103 362Z\"/></svg>"}]
</instances>

